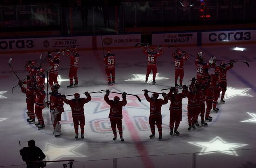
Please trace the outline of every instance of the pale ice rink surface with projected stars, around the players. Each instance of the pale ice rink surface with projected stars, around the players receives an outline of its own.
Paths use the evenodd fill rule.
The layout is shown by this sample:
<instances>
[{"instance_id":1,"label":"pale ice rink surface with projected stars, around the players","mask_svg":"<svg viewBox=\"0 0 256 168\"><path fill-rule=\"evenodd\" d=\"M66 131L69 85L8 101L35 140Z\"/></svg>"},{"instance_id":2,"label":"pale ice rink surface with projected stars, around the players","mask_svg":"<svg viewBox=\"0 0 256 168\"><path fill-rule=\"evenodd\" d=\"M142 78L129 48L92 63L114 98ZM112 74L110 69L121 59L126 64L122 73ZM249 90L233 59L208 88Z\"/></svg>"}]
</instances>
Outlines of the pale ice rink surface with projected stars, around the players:
<instances>
[{"instance_id":1,"label":"pale ice rink surface with projected stars, around the players","mask_svg":"<svg viewBox=\"0 0 256 168\"><path fill-rule=\"evenodd\" d=\"M245 48L235 51L234 47ZM163 55L157 60L158 75L156 84L152 84L152 74L145 83L147 58L142 48L119 49L111 52L116 55L115 85L107 85L105 67L102 62L102 51L79 51L78 79L79 87L67 88L69 85L69 60L61 54L59 66L59 83L61 94L94 92L109 89L115 92L136 94L127 96L127 105L123 108L123 137L113 141L113 133L108 119L109 106L104 101L105 93L91 94L92 101L84 105L85 109L85 139L75 140L71 109L64 105L65 112L61 116L61 137L52 134L49 108L43 110L46 128L37 130L34 124L26 122L25 94L19 87L13 90L18 80L8 66L11 65L20 78L28 74L24 65L28 60L36 60L40 64L40 53L0 54L0 167L5 165L24 164L19 155L19 141L22 147L27 141L34 139L36 146L47 155L45 160L74 159L74 168L112 168L113 158L117 159L118 168L256 168L256 55L255 45L222 45L207 47L179 47L189 54L196 55L202 51L205 61L211 56L217 60L247 61L234 63L234 68L227 72L228 90L225 104L219 103L218 113L211 112L212 122L208 127L188 128L187 99L182 100L182 121L178 128L179 136L170 136L169 105L162 106L162 141L156 137L149 139L150 127L149 103L145 100L142 90L162 92L160 89L174 86L175 65L171 57L175 48L163 48ZM196 77L195 58L190 56L185 62L185 77L183 84L189 85L192 77ZM220 62L217 62L219 65ZM48 63L42 64L44 68ZM213 69L209 74L213 74ZM47 89L45 89L47 90ZM181 90L180 90L181 91ZM168 93L168 90L167 90ZM110 99L118 94L110 94ZM151 96L151 94L149 93ZM121 94L118 96L121 97ZM81 96L84 97L84 96ZM162 95L159 96L162 98ZM73 98L73 97L67 97ZM46 98L47 99L47 98ZM220 101L220 99L218 100ZM200 121L200 117L199 117ZM79 129L80 133L80 129ZM250 149L250 150L245 150ZM210 152L209 151L218 151ZM194 153L194 155L193 155ZM179 154L179 155L169 155ZM161 155L161 156L158 156ZM141 157L143 156L143 157ZM194 156L194 157L193 157ZM102 160L107 159L107 160ZM195 162L193 162L193 159ZM101 160L101 161L90 161ZM61 168L63 163L50 163L47 168ZM13 166L19 168L25 166Z\"/></svg>"}]
</instances>

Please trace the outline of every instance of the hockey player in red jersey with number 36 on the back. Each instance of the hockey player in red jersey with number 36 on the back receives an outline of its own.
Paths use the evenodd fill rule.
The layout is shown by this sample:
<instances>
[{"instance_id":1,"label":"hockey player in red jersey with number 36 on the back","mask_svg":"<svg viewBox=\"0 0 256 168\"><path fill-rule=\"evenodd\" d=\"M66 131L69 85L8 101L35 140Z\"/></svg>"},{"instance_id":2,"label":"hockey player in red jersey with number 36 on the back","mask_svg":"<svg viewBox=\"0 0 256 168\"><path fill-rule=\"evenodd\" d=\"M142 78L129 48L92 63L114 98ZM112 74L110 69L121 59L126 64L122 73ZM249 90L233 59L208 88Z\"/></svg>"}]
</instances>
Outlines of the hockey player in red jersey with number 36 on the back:
<instances>
[{"instance_id":1,"label":"hockey player in red jersey with number 36 on the back","mask_svg":"<svg viewBox=\"0 0 256 168\"><path fill-rule=\"evenodd\" d=\"M195 67L197 69L197 73L196 73L197 80L205 81L205 79L209 76L208 69L210 67L215 67L215 65L216 65L216 57L211 57L211 59L209 60L209 63L206 63L202 56L202 52L199 52L195 60Z\"/></svg>"}]
</instances>

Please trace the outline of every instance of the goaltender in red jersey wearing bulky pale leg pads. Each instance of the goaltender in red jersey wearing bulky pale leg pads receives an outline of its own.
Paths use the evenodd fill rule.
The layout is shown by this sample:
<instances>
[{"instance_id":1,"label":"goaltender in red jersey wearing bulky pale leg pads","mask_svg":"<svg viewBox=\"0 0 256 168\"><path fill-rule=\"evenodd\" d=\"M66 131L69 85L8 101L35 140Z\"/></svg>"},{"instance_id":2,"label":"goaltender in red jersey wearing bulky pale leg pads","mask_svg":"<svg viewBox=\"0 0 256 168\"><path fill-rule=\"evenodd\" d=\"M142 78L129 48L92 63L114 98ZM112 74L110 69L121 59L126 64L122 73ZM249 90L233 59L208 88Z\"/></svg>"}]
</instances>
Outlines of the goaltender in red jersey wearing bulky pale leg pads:
<instances>
[{"instance_id":1,"label":"goaltender in red jersey wearing bulky pale leg pads","mask_svg":"<svg viewBox=\"0 0 256 168\"><path fill-rule=\"evenodd\" d=\"M55 137L61 135L61 114L64 111L63 108L63 99L61 94L58 93L60 88L59 84L54 83L52 86L52 93L50 96L50 102L47 102L47 105L50 105L50 113L51 113L51 120L54 127L53 134Z\"/></svg>"}]
</instances>

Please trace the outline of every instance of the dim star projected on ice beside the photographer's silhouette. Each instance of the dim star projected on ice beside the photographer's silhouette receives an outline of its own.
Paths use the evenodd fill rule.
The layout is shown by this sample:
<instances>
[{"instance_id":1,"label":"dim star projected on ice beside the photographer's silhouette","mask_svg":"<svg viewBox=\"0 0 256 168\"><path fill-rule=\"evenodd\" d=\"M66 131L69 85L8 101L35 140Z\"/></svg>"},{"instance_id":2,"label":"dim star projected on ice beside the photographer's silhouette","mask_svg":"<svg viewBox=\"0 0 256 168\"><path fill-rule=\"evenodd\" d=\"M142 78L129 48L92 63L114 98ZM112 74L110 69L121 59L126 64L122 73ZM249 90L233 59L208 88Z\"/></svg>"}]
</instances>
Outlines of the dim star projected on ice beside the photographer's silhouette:
<instances>
[{"instance_id":1,"label":"dim star projected on ice beside the photographer's silhouette","mask_svg":"<svg viewBox=\"0 0 256 168\"><path fill-rule=\"evenodd\" d=\"M62 157L86 157L78 152L75 152L77 148L80 148L83 144L74 144L69 146L59 146L51 143L45 144L45 149L43 150L47 156L47 161L55 161L61 159Z\"/></svg>"}]
</instances>

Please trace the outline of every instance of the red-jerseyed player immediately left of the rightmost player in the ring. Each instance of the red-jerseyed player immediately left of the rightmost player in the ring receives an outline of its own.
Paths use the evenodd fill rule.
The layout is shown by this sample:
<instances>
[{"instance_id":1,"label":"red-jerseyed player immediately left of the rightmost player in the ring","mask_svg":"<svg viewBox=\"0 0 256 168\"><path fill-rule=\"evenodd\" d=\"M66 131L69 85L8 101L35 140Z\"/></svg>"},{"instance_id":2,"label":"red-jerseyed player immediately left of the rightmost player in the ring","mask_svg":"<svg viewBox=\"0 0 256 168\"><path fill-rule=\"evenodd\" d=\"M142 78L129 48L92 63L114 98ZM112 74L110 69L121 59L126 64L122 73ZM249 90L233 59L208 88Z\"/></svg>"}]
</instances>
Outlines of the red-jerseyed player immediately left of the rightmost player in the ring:
<instances>
[{"instance_id":1,"label":"red-jerseyed player immediately left of the rightmost player in the ring","mask_svg":"<svg viewBox=\"0 0 256 168\"><path fill-rule=\"evenodd\" d=\"M219 67L216 67L214 70L215 74L211 74L211 86L213 90L213 111L216 113L219 111L219 108L216 108L218 104L218 99L220 97L220 92L221 92L221 81L220 81L220 70Z\"/></svg>"}]
</instances>

